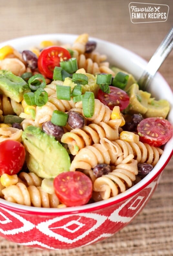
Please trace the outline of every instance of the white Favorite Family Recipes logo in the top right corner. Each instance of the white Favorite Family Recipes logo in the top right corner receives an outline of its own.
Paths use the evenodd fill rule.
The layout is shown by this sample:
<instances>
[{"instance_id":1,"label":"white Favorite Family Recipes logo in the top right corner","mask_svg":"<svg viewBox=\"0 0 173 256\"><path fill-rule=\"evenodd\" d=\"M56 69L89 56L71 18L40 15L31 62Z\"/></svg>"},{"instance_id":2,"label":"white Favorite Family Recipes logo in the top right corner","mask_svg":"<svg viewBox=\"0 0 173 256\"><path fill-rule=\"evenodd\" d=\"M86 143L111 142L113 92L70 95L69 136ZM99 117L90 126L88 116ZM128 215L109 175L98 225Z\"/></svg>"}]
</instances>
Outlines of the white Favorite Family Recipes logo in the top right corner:
<instances>
[{"instance_id":1,"label":"white Favorite Family Recipes logo in the top right corner","mask_svg":"<svg viewBox=\"0 0 173 256\"><path fill-rule=\"evenodd\" d=\"M132 23L164 22L168 18L169 6L131 2L129 11Z\"/></svg>"}]
</instances>

